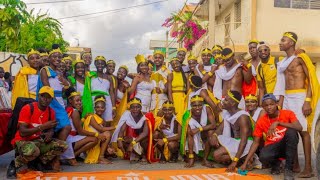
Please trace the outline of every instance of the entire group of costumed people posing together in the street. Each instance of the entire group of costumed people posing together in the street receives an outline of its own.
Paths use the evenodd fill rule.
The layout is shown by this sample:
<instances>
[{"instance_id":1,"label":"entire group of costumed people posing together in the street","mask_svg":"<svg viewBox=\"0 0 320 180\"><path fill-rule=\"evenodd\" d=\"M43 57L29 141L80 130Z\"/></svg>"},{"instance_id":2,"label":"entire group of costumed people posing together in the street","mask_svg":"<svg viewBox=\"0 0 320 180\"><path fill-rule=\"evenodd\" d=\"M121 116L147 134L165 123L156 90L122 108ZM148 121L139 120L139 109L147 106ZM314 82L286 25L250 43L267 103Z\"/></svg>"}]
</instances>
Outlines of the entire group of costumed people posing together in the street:
<instances>
[{"instance_id":1,"label":"entire group of costumed people posing together in the street","mask_svg":"<svg viewBox=\"0 0 320 180\"><path fill-rule=\"evenodd\" d=\"M285 159L291 177L300 171L299 134L305 152L300 176L311 177L308 130L318 80L309 57L295 49L297 39L283 34L282 60L257 40L248 44L251 60L219 45L203 49L201 61L180 48L166 64L165 54L155 51L152 61L135 57L136 73L103 56L94 58L96 71L90 71L90 53L73 60L59 49L31 50L29 66L15 77L12 107L17 97L38 101L33 114L29 106L20 113L15 165L51 160L60 170L59 161L77 165L79 156L102 164L120 157L131 163L184 160L187 168L202 160L228 171L269 166L278 174Z\"/></svg>"}]
</instances>

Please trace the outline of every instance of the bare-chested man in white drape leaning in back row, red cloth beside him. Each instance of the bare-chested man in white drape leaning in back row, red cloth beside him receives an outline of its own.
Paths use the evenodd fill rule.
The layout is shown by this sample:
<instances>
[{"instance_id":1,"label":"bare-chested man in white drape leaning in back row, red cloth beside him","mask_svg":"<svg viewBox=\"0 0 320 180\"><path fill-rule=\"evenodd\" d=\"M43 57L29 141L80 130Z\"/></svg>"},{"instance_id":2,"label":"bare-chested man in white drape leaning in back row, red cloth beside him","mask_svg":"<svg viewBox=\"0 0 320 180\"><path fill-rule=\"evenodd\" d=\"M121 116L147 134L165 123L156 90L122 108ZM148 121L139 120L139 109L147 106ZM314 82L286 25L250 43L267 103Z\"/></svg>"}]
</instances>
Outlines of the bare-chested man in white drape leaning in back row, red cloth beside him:
<instances>
[{"instance_id":1,"label":"bare-chested man in white drape leaning in back row, red cloth beside him","mask_svg":"<svg viewBox=\"0 0 320 180\"><path fill-rule=\"evenodd\" d=\"M252 65L247 61L237 63L234 57L234 53L230 48L224 48L222 50L222 58L224 65L215 71L216 79L213 86L213 92L217 99L222 100L226 97L229 89L238 91L242 94L243 81L250 83L252 79ZM239 105L244 109L244 99L241 99Z\"/></svg>"}]
</instances>

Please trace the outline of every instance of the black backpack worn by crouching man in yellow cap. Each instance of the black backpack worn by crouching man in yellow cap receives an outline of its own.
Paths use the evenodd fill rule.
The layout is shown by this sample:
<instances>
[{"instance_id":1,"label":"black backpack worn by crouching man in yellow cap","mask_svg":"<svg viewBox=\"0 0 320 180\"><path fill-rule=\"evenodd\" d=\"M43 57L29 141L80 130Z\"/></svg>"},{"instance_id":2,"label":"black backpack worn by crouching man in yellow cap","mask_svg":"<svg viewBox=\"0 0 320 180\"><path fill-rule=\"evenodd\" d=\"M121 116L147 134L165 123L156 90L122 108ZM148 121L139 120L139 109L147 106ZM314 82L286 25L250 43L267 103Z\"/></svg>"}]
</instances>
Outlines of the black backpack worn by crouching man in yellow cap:
<instances>
[{"instance_id":1,"label":"black backpack worn by crouching man in yellow cap","mask_svg":"<svg viewBox=\"0 0 320 180\"><path fill-rule=\"evenodd\" d=\"M14 106L12 116L8 123L8 133L6 135L7 142L11 142L11 140L16 135L16 132L18 130L18 121L19 121L19 115L20 115L21 109L28 104L30 106L30 114L31 115L33 114L33 111L34 111L33 102L36 102L36 100L32 98L23 98L23 97L17 98L16 105ZM51 120L51 108L50 107L48 108L49 108L48 120Z\"/></svg>"}]
</instances>

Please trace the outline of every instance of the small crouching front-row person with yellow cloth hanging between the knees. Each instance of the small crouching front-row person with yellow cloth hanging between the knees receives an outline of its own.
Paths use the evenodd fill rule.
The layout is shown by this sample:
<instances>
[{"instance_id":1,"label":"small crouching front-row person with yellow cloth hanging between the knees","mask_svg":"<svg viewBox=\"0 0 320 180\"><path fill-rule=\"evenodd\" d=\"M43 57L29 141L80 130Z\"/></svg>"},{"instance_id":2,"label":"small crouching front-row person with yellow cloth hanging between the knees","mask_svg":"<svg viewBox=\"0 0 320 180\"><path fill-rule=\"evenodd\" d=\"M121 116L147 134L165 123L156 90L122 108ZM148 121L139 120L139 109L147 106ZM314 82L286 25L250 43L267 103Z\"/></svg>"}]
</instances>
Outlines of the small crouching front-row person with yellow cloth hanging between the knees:
<instances>
[{"instance_id":1,"label":"small crouching front-row person with yellow cloth hanging between the knees","mask_svg":"<svg viewBox=\"0 0 320 180\"><path fill-rule=\"evenodd\" d=\"M165 101L161 108L164 116L160 125L154 132L153 139L157 142L157 148L160 150L160 163L166 161L176 162L179 153L179 140L181 137L181 125L174 115L174 106L172 102Z\"/></svg>"}]
</instances>

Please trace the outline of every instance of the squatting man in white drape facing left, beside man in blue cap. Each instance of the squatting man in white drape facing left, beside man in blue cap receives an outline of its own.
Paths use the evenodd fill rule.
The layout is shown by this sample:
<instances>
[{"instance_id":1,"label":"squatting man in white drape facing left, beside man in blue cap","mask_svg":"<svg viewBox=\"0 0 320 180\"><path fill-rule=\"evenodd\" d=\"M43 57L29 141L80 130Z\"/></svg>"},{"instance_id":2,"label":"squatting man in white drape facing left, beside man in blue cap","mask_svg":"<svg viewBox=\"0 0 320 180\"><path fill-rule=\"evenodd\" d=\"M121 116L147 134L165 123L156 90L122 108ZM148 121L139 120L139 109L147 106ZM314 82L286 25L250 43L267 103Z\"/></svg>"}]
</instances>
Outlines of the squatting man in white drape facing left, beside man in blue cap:
<instances>
[{"instance_id":1,"label":"squatting man in white drape facing left, beside man in blue cap","mask_svg":"<svg viewBox=\"0 0 320 180\"><path fill-rule=\"evenodd\" d=\"M228 91L222 101L223 123L219 125L212 143L215 161L229 164L227 171L234 171L239 159L246 156L252 144L252 124L250 115L238 108L242 95L238 91Z\"/></svg>"}]
</instances>

